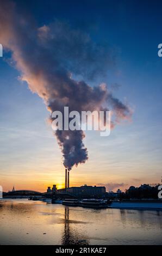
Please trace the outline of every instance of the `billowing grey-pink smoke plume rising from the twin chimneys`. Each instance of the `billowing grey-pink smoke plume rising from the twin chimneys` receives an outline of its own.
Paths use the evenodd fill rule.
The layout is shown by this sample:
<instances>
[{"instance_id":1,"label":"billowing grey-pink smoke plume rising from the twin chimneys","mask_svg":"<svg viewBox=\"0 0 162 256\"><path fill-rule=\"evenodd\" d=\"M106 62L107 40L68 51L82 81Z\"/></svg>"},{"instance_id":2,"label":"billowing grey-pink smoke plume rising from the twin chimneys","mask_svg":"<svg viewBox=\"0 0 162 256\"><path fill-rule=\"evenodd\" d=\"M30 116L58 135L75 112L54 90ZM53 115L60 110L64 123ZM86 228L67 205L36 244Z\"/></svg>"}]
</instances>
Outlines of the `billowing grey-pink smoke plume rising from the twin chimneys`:
<instances>
[{"instance_id":1,"label":"billowing grey-pink smoke plume rising from the twin chimneys","mask_svg":"<svg viewBox=\"0 0 162 256\"><path fill-rule=\"evenodd\" d=\"M78 112L112 109L112 127L130 118L128 106L105 84L91 87L85 82L104 77L114 61L110 50L93 42L88 34L60 21L38 27L32 17L17 13L13 2L3 1L0 38L11 52L11 64L21 72L21 80L43 99L51 113L63 112L64 106ZM83 131L58 130L55 136L65 167L71 169L88 159Z\"/></svg>"}]
</instances>

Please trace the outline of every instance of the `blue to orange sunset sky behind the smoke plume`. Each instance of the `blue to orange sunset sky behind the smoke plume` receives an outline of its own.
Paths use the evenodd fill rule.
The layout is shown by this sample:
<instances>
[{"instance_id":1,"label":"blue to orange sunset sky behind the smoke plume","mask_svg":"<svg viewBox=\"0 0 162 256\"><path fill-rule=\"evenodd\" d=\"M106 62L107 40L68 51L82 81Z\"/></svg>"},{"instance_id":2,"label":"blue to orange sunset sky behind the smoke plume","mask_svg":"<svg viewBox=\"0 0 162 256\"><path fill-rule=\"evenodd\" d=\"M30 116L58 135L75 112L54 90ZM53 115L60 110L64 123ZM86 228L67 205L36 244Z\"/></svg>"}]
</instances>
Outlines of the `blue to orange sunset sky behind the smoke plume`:
<instances>
[{"instance_id":1,"label":"blue to orange sunset sky behind the smoke plume","mask_svg":"<svg viewBox=\"0 0 162 256\"><path fill-rule=\"evenodd\" d=\"M96 44L106 48L108 45L113 63L108 66L106 76L101 72L93 80L83 77L84 81L92 87L106 83L113 95L133 111L132 120L116 125L109 137L100 137L97 131L85 132L89 159L72 168L70 186L105 185L107 191L117 188L124 191L130 185L160 182L162 58L158 57L158 44L162 43L162 3L14 2L16 14L33 19L38 27L54 21L68 23L88 34ZM0 4L0 18L1 15ZM5 39L1 38L0 29L3 45ZM97 67L102 65L104 59ZM64 187L63 156L47 121L49 112L42 98L31 92L27 82L21 81L21 75L11 60L11 51L4 47L0 57L0 185L4 191L11 190L13 185L16 190L41 192L53 184ZM79 79L79 74L74 77Z\"/></svg>"}]
</instances>

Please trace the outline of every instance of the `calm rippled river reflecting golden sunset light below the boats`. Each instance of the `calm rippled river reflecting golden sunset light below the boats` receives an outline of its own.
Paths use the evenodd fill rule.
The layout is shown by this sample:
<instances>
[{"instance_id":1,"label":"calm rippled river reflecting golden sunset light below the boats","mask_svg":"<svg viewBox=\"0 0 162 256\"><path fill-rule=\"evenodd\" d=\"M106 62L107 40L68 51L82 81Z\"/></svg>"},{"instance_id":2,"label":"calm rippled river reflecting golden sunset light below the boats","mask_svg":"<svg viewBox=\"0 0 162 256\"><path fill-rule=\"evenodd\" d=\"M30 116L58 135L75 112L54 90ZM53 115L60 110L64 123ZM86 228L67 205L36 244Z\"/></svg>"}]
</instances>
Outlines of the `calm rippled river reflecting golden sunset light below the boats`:
<instances>
[{"instance_id":1,"label":"calm rippled river reflecting golden sunset light below the boats","mask_svg":"<svg viewBox=\"0 0 162 256\"><path fill-rule=\"evenodd\" d=\"M161 245L162 211L0 200L0 245Z\"/></svg>"}]
</instances>

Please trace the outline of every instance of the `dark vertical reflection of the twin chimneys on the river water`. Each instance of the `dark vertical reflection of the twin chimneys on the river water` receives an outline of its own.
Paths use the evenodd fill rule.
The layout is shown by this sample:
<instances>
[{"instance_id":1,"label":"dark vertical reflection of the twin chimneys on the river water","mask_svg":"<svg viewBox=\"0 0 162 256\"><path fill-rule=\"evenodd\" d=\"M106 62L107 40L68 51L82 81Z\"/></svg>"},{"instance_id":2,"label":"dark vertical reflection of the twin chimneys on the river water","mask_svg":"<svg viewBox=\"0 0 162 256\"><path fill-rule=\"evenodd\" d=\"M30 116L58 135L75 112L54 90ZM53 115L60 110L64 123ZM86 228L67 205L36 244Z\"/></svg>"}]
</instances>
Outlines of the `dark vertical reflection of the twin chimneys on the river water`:
<instances>
[{"instance_id":1,"label":"dark vertical reflection of the twin chimneys on the river water","mask_svg":"<svg viewBox=\"0 0 162 256\"><path fill-rule=\"evenodd\" d=\"M62 245L89 245L89 242L82 239L83 234L78 233L77 229L72 228L70 222L70 209L65 206L64 234L61 239Z\"/></svg>"}]
</instances>

